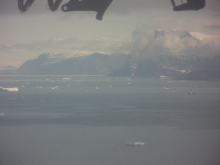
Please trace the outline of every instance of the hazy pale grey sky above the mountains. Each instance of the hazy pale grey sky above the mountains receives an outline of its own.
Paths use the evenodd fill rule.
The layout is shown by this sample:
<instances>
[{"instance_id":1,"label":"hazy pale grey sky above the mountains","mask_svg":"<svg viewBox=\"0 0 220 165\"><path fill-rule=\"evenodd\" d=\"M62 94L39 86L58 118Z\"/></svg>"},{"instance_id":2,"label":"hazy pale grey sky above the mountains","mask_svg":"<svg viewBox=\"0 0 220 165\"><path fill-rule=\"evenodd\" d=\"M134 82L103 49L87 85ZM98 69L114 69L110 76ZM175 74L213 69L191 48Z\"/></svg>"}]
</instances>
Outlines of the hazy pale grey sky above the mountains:
<instances>
[{"instance_id":1,"label":"hazy pale grey sky above the mountains","mask_svg":"<svg viewBox=\"0 0 220 165\"><path fill-rule=\"evenodd\" d=\"M103 21L95 12L51 12L46 6L35 0L20 13L17 0L0 0L0 66L19 66L44 52L128 53L137 23L152 35L158 28L220 35L220 0L187 12L174 12L170 0L113 0Z\"/></svg>"}]
</instances>

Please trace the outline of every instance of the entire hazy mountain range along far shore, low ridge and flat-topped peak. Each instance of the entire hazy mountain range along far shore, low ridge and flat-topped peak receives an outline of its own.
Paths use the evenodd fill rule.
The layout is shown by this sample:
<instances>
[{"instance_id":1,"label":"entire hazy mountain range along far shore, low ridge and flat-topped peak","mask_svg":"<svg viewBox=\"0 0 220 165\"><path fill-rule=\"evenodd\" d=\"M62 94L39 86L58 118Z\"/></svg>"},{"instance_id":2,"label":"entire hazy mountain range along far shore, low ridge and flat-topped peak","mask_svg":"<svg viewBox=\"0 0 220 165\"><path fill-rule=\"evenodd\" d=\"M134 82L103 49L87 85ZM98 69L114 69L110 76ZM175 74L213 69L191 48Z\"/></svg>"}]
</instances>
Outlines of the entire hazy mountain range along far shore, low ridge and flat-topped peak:
<instances>
[{"instance_id":1,"label":"entire hazy mountain range along far shore, low ridge and flat-topped peak","mask_svg":"<svg viewBox=\"0 0 220 165\"><path fill-rule=\"evenodd\" d=\"M25 62L17 74L220 79L218 36L157 29L145 46L140 41L134 43L129 55L44 53Z\"/></svg>"}]
</instances>

